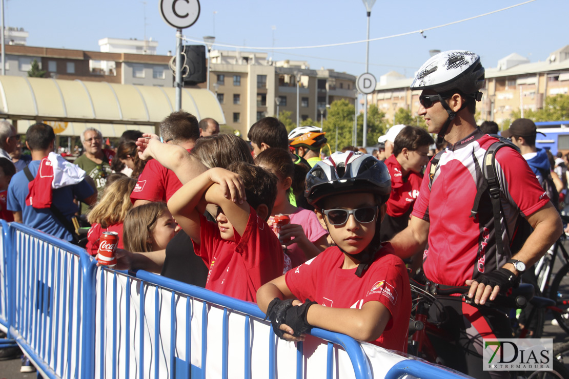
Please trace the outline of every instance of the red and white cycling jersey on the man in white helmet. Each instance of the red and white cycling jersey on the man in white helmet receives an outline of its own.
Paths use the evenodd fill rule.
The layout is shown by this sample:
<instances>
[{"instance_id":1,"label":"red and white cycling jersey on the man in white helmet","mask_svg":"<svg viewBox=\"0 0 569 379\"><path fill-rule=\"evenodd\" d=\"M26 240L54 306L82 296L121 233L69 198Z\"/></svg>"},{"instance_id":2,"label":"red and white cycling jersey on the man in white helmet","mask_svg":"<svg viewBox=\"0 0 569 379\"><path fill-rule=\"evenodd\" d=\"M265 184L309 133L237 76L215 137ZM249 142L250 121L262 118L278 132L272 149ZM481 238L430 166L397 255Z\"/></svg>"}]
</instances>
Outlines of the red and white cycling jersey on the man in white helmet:
<instances>
[{"instance_id":1,"label":"red and white cycling jersey on the man in white helmet","mask_svg":"<svg viewBox=\"0 0 569 379\"><path fill-rule=\"evenodd\" d=\"M423 269L439 284L464 286L484 272L503 266L511 256L508 236L516 231L518 215L528 216L549 201L535 174L517 151L502 148L496 153L504 254L497 256L492 204L488 195L480 199L479 212L471 217L477 189L483 182L480 168L486 150L497 141L473 132L440 156L432 185L424 180L411 215L430 223ZM426 172L430 172L431 163Z\"/></svg>"}]
</instances>

